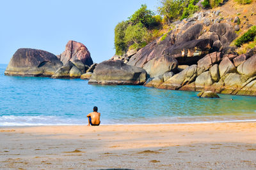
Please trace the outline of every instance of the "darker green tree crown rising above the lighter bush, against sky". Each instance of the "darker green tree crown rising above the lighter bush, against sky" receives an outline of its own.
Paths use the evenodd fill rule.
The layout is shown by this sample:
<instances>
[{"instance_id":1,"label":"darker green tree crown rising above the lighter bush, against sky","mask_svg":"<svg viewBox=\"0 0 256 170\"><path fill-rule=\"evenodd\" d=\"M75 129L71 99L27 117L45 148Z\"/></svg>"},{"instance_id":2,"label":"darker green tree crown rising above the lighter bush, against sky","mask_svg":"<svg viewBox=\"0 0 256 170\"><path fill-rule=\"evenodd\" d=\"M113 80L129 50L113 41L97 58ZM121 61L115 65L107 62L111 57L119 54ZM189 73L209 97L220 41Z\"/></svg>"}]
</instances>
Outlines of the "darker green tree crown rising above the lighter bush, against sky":
<instances>
[{"instance_id":1,"label":"darker green tree crown rising above the lighter bush, against sky","mask_svg":"<svg viewBox=\"0 0 256 170\"><path fill-rule=\"evenodd\" d=\"M153 17L154 13L147 10L146 4L141 4L141 8L134 12L134 14L129 17L132 25L142 24L149 29L156 24L156 18Z\"/></svg>"}]
</instances>

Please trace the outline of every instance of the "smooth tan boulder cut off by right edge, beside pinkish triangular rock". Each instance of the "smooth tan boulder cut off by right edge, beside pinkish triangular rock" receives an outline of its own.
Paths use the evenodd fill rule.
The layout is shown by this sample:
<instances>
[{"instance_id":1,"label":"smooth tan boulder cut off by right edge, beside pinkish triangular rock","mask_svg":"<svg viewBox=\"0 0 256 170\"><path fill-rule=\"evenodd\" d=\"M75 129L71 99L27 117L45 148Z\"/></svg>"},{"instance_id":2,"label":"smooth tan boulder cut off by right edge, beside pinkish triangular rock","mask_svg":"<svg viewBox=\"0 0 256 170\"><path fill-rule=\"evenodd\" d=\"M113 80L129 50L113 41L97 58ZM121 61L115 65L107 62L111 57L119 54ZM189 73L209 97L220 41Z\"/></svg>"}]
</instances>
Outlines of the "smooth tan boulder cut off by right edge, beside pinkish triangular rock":
<instances>
[{"instance_id":1,"label":"smooth tan boulder cut off by right edge, beside pinkish triangular rock","mask_svg":"<svg viewBox=\"0 0 256 170\"><path fill-rule=\"evenodd\" d=\"M240 64L237 67L237 71L240 74L243 74L248 77L252 77L256 75L256 55L253 55L249 59L247 59L243 64Z\"/></svg>"}]
</instances>

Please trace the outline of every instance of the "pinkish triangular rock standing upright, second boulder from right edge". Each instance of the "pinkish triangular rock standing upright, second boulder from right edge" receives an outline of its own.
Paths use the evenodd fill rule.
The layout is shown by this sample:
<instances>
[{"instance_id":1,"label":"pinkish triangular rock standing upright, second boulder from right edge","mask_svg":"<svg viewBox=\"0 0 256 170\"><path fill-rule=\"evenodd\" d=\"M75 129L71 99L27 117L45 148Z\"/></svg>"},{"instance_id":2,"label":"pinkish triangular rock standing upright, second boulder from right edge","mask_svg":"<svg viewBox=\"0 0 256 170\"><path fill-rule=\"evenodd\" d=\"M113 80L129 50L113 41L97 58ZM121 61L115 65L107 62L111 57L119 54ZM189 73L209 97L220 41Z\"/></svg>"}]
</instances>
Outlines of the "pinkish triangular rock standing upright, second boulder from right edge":
<instances>
[{"instance_id":1,"label":"pinkish triangular rock standing upright, second boulder from right edge","mask_svg":"<svg viewBox=\"0 0 256 170\"><path fill-rule=\"evenodd\" d=\"M234 64L228 59L228 57L223 57L219 65L220 77L224 76L227 73L236 72L236 67Z\"/></svg>"}]
</instances>

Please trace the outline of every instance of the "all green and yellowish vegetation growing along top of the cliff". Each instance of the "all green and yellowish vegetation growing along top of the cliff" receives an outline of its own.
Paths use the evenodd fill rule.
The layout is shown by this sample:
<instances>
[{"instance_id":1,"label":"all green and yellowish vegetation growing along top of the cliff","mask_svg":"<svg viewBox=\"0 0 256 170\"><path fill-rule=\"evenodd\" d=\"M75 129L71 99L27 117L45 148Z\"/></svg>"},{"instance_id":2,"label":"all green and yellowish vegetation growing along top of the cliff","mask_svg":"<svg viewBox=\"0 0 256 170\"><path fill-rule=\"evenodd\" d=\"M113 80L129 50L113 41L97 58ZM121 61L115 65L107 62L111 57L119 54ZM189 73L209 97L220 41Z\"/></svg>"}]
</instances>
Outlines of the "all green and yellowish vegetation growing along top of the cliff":
<instances>
[{"instance_id":1,"label":"all green and yellowish vegetation growing along top of the cliff","mask_svg":"<svg viewBox=\"0 0 256 170\"><path fill-rule=\"evenodd\" d=\"M234 0L234 2L236 4L250 4L252 0ZM172 29L172 22L175 20L192 17L195 12L202 10L202 8L216 8L225 3L223 0L161 0L160 6L157 8L159 15L148 10L147 6L143 4L128 20L116 25L116 55L124 55L132 49L139 50L159 36L163 36L161 38L163 40L166 38L166 32ZM223 17L220 20L223 20ZM237 24L240 24L240 20ZM241 46L245 41L248 42L244 37L237 39L235 45Z\"/></svg>"}]
</instances>

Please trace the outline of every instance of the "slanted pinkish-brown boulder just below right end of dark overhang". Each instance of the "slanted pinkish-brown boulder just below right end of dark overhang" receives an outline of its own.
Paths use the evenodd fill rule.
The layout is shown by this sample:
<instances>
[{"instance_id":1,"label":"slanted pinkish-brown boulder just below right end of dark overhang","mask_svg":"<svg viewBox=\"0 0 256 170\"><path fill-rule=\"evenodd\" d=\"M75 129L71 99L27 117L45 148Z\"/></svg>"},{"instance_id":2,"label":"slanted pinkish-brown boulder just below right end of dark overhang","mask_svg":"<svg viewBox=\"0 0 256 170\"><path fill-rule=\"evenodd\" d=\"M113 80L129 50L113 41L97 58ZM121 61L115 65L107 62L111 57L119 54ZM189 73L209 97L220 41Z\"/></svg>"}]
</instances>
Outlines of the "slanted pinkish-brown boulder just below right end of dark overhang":
<instances>
[{"instance_id":1,"label":"slanted pinkish-brown boulder just below right end of dark overhang","mask_svg":"<svg viewBox=\"0 0 256 170\"><path fill-rule=\"evenodd\" d=\"M213 52L205 55L204 58L198 60L197 62L197 73L201 74L204 71L207 71L213 64L220 62L221 60L221 53L220 52Z\"/></svg>"}]
</instances>

